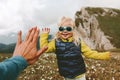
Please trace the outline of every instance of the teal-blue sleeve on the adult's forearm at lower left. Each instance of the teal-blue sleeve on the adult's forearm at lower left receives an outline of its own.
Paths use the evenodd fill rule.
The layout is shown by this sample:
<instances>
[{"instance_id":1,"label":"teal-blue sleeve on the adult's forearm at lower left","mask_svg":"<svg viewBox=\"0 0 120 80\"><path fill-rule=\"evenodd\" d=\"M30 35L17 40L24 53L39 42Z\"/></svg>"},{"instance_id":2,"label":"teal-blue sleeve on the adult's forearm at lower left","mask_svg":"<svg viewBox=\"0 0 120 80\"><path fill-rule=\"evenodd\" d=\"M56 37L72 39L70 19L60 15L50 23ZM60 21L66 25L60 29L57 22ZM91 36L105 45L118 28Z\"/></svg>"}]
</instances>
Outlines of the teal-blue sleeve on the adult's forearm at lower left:
<instances>
[{"instance_id":1,"label":"teal-blue sleeve on the adult's forearm at lower left","mask_svg":"<svg viewBox=\"0 0 120 80\"><path fill-rule=\"evenodd\" d=\"M0 80L16 80L27 65L26 60L21 56L6 59L0 63Z\"/></svg>"}]
</instances>

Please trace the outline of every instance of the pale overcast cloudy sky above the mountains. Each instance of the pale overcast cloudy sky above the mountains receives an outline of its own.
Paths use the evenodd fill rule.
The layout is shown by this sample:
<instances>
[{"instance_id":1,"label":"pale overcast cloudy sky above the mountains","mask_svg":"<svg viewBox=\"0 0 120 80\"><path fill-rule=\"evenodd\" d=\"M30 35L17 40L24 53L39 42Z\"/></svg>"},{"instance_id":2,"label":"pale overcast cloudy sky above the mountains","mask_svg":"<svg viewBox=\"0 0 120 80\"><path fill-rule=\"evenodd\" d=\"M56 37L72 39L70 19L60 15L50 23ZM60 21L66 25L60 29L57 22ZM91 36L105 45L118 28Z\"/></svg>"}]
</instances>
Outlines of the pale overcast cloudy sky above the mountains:
<instances>
[{"instance_id":1,"label":"pale overcast cloudy sky above the mountains","mask_svg":"<svg viewBox=\"0 0 120 80\"><path fill-rule=\"evenodd\" d=\"M82 7L120 9L120 0L0 0L0 43L13 43L22 30L23 35L33 26L50 27L56 32L62 16L74 19Z\"/></svg>"}]
</instances>

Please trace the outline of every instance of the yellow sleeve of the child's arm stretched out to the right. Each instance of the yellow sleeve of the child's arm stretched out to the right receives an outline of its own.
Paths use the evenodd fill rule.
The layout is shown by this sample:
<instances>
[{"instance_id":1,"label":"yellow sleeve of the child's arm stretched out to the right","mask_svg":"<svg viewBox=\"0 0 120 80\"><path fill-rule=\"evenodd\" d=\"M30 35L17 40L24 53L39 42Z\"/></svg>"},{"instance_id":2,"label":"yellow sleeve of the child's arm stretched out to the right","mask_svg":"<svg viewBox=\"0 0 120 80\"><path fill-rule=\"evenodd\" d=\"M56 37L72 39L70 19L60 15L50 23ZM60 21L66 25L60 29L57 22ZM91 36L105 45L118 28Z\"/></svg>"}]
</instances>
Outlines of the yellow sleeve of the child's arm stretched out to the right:
<instances>
[{"instance_id":1,"label":"yellow sleeve of the child's arm stretched out to the right","mask_svg":"<svg viewBox=\"0 0 120 80\"><path fill-rule=\"evenodd\" d=\"M81 41L81 51L85 57L92 59L109 59L109 52L97 52L91 50L83 41Z\"/></svg>"}]
</instances>

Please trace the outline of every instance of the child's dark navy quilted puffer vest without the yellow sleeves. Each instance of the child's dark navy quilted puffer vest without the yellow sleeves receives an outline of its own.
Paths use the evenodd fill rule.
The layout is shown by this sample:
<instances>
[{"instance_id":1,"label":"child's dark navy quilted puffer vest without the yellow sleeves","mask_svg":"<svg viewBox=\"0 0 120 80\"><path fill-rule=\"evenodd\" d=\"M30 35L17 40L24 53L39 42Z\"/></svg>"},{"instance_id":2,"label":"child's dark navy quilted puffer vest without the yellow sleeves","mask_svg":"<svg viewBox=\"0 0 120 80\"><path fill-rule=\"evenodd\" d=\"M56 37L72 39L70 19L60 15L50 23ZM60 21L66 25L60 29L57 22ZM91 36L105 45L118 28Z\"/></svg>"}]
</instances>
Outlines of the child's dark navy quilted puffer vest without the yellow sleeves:
<instances>
[{"instance_id":1,"label":"child's dark navy quilted puffer vest without the yellow sleeves","mask_svg":"<svg viewBox=\"0 0 120 80\"><path fill-rule=\"evenodd\" d=\"M86 72L81 48L75 43L56 40L56 55L61 76L75 78Z\"/></svg>"}]
</instances>

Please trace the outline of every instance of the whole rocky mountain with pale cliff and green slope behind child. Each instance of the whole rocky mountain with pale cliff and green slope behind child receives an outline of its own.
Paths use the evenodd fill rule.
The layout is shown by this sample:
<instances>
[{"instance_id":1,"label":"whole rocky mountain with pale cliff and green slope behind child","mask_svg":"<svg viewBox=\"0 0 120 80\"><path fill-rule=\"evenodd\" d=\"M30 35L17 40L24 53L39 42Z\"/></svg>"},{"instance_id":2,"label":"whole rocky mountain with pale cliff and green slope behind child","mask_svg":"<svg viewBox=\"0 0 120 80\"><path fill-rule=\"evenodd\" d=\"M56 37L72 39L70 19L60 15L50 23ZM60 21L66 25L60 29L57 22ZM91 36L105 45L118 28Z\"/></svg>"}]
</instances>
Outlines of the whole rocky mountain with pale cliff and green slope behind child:
<instances>
[{"instance_id":1,"label":"whole rocky mountain with pale cliff and green slope behind child","mask_svg":"<svg viewBox=\"0 0 120 80\"><path fill-rule=\"evenodd\" d=\"M84 7L75 14L76 29L92 49L120 48L120 10Z\"/></svg>"}]
</instances>

